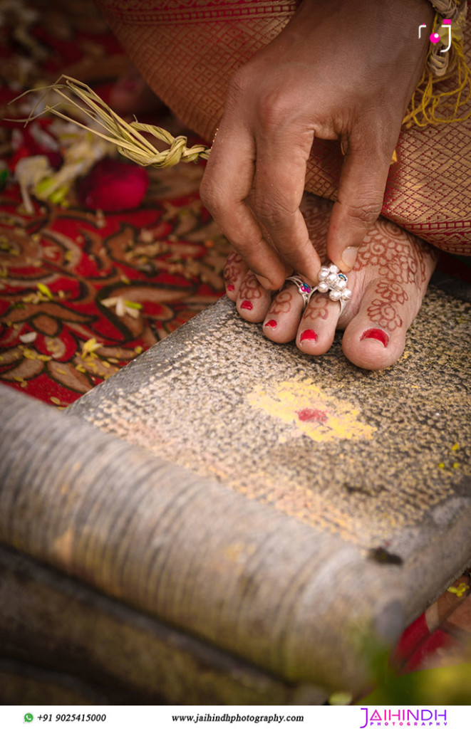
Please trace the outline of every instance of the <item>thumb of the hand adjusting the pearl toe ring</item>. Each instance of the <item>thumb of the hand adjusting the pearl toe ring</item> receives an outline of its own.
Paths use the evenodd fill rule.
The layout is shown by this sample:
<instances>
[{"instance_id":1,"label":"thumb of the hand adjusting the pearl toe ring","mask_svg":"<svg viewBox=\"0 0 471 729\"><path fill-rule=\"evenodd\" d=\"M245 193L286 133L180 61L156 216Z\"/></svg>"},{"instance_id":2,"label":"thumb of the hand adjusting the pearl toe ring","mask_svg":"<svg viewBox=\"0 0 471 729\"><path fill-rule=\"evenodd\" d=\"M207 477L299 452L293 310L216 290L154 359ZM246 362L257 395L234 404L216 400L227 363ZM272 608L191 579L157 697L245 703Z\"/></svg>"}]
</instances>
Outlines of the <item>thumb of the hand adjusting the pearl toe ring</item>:
<instances>
[{"instance_id":1,"label":"thumb of the hand adjusting the pearl toe ring","mask_svg":"<svg viewBox=\"0 0 471 729\"><path fill-rule=\"evenodd\" d=\"M392 149L349 150L343 160L338 198L330 215L327 255L346 273L354 267L363 238L383 207Z\"/></svg>"}]
</instances>

